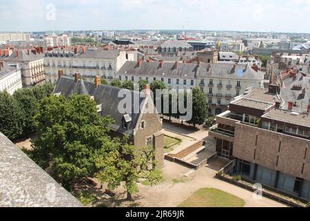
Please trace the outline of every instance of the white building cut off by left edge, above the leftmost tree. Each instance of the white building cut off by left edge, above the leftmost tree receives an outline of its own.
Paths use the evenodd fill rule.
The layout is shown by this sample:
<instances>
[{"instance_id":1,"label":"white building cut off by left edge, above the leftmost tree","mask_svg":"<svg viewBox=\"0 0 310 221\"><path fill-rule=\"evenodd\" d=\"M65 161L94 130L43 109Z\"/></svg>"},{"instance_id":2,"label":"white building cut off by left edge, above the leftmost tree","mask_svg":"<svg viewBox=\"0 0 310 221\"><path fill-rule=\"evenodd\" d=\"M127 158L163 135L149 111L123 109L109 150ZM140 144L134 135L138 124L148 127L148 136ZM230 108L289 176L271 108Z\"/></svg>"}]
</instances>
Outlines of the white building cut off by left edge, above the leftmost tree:
<instances>
[{"instance_id":1,"label":"white building cut off by left edge, above the leftmost tree","mask_svg":"<svg viewBox=\"0 0 310 221\"><path fill-rule=\"evenodd\" d=\"M21 68L0 61L0 92L7 91L12 95L22 87Z\"/></svg>"}]
</instances>

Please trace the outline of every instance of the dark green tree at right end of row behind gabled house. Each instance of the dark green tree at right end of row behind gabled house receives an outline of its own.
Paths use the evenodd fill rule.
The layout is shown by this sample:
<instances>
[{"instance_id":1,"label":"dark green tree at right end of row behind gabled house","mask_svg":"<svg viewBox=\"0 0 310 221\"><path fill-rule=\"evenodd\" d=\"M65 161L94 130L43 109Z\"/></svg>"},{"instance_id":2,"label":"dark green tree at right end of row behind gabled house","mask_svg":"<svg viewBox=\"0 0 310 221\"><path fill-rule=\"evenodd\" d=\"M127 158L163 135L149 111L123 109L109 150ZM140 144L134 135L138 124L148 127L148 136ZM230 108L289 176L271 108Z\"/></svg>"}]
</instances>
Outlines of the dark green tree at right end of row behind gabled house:
<instances>
[{"instance_id":1,"label":"dark green tree at right end of row behind gabled house","mask_svg":"<svg viewBox=\"0 0 310 221\"><path fill-rule=\"evenodd\" d=\"M196 126L205 123L207 117L207 101L205 95L199 88L192 90L193 104L192 104L192 119L187 123Z\"/></svg>"}]
</instances>

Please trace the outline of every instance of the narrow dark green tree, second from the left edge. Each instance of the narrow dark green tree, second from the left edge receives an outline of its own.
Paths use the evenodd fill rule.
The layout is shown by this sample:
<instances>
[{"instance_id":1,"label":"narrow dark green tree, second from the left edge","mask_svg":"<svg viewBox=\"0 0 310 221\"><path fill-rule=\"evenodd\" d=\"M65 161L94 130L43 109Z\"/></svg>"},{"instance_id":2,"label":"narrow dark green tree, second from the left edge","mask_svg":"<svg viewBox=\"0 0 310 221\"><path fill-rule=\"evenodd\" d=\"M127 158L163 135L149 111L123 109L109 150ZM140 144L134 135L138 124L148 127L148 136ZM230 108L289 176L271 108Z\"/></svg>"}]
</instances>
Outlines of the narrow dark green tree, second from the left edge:
<instances>
[{"instance_id":1,"label":"narrow dark green tree, second from the left edge","mask_svg":"<svg viewBox=\"0 0 310 221\"><path fill-rule=\"evenodd\" d=\"M33 133L35 130L34 116L37 114L37 97L34 96L33 90L30 88L22 88L15 91L13 97L23 111L23 134Z\"/></svg>"}]
</instances>

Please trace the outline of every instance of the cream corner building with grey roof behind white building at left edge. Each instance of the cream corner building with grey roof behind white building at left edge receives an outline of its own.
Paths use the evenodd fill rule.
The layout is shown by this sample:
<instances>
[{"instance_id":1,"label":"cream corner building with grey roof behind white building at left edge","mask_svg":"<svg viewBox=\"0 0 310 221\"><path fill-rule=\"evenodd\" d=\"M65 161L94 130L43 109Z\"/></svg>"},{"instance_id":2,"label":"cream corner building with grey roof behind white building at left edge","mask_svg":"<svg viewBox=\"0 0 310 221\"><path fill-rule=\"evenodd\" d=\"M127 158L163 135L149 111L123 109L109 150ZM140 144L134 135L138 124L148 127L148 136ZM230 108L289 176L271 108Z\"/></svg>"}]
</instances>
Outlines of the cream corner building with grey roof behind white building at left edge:
<instances>
[{"instance_id":1,"label":"cream corner building with grey roof behind white building at left edge","mask_svg":"<svg viewBox=\"0 0 310 221\"><path fill-rule=\"evenodd\" d=\"M14 50L10 56L6 53L0 56L1 60L21 68L23 87L32 87L45 82L43 47Z\"/></svg>"}]
</instances>

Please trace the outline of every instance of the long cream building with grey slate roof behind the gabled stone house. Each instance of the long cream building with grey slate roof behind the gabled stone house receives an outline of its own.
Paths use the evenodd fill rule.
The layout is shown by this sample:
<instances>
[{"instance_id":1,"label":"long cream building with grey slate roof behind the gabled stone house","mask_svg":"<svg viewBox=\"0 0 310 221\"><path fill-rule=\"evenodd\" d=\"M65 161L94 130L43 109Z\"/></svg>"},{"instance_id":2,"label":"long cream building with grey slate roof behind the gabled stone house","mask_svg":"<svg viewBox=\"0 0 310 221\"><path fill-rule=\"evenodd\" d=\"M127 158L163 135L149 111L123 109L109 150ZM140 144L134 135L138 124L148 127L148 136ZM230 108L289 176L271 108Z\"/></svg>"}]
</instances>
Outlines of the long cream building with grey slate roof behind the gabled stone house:
<instances>
[{"instance_id":1,"label":"long cream building with grey slate roof behind the gabled stone house","mask_svg":"<svg viewBox=\"0 0 310 221\"><path fill-rule=\"evenodd\" d=\"M167 88L199 87L206 95L211 114L227 110L231 100L249 87L262 87L264 75L247 64L185 64L178 61L127 61L116 73L121 81L163 81Z\"/></svg>"}]
</instances>

